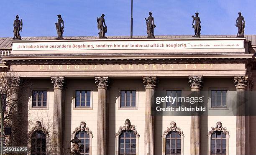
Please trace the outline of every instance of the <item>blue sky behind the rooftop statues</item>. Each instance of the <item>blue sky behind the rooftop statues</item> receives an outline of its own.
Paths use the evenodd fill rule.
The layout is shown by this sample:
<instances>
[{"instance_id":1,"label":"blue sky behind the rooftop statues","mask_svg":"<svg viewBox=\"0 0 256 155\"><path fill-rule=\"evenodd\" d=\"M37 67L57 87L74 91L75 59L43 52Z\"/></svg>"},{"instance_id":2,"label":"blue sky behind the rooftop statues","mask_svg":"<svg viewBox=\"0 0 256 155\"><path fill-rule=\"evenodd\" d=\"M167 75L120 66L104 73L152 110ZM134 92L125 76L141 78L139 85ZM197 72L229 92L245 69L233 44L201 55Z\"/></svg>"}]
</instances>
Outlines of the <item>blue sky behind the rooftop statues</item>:
<instances>
[{"instance_id":1,"label":"blue sky behind the rooftop statues","mask_svg":"<svg viewBox=\"0 0 256 155\"><path fill-rule=\"evenodd\" d=\"M133 36L146 36L148 12L158 35L193 35L192 15L199 12L201 35L237 33L241 12L245 34L256 34L256 0L133 0ZM63 36L98 36L96 18L105 14L106 36L130 36L131 0L0 0L0 37L13 37L13 20L23 20L24 36L56 36L61 14Z\"/></svg>"}]
</instances>

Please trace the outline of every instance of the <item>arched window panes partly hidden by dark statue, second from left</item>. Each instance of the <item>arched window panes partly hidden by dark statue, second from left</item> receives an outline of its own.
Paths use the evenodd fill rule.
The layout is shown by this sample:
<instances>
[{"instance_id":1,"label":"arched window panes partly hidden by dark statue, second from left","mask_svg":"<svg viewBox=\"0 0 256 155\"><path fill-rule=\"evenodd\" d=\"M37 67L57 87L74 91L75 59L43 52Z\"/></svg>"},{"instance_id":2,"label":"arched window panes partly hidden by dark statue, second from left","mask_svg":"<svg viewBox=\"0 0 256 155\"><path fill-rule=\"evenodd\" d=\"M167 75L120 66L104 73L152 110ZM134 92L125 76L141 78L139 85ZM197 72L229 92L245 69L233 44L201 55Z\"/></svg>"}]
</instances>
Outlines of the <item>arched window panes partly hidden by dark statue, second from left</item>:
<instances>
[{"instance_id":1,"label":"arched window panes partly hidden by dark statue, second from left","mask_svg":"<svg viewBox=\"0 0 256 155\"><path fill-rule=\"evenodd\" d=\"M79 143L79 147L84 148L81 150L81 155L90 155L90 135L86 131L80 131L75 135L79 140L81 140L81 143Z\"/></svg>"}]
</instances>

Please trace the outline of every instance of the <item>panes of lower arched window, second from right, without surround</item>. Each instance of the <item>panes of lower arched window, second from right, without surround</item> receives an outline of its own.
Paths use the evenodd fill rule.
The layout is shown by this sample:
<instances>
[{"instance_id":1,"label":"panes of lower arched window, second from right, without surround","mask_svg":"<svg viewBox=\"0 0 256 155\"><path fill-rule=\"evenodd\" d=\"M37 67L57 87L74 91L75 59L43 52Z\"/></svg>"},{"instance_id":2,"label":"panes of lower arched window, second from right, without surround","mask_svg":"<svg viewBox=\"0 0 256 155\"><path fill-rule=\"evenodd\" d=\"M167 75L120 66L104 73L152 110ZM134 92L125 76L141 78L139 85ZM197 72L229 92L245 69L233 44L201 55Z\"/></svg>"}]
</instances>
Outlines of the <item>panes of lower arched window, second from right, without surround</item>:
<instances>
[{"instance_id":1,"label":"panes of lower arched window, second from right, without surround","mask_svg":"<svg viewBox=\"0 0 256 155\"><path fill-rule=\"evenodd\" d=\"M166 135L166 155L181 155L181 135L177 131L171 131Z\"/></svg>"}]
</instances>

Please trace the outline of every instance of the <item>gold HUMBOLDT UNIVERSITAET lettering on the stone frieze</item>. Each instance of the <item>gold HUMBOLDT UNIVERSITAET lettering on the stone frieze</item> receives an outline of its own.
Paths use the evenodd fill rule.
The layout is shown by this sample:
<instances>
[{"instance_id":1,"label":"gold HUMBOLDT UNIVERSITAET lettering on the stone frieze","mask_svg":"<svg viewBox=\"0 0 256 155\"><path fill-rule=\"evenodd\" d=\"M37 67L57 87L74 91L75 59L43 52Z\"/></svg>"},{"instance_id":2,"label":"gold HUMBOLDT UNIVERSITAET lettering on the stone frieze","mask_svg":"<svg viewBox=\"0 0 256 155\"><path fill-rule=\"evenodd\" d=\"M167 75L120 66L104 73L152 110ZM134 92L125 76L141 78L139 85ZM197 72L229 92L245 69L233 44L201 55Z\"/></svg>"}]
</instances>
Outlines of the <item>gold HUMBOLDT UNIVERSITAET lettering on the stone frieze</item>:
<instances>
[{"instance_id":1,"label":"gold HUMBOLDT UNIVERSITAET lettering on the stone frieze","mask_svg":"<svg viewBox=\"0 0 256 155\"><path fill-rule=\"evenodd\" d=\"M117 64L117 65L38 65L39 70L206 70L217 69L215 64Z\"/></svg>"}]
</instances>

